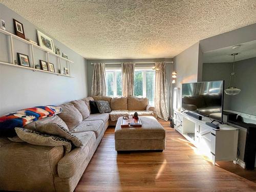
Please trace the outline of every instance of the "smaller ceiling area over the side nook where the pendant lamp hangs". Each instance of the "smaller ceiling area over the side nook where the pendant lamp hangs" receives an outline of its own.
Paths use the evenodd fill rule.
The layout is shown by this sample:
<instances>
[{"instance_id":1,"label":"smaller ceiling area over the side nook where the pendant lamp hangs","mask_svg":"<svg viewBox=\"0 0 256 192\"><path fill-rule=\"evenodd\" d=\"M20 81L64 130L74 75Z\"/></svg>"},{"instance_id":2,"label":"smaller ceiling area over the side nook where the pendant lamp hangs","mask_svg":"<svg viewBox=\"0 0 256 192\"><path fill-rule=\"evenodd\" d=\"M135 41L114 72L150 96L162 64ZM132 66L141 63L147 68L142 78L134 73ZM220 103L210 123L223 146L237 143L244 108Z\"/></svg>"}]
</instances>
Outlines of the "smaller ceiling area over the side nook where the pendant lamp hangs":
<instances>
[{"instance_id":1,"label":"smaller ceiling area over the side nook where the pendant lamp hangs","mask_svg":"<svg viewBox=\"0 0 256 192\"><path fill-rule=\"evenodd\" d=\"M203 54L203 62L233 62L232 53L238 53L236 61L256 57L256 40L245 42L236 49L232 49L232 47L205 52Z\"/></svg>"}]
</instances>

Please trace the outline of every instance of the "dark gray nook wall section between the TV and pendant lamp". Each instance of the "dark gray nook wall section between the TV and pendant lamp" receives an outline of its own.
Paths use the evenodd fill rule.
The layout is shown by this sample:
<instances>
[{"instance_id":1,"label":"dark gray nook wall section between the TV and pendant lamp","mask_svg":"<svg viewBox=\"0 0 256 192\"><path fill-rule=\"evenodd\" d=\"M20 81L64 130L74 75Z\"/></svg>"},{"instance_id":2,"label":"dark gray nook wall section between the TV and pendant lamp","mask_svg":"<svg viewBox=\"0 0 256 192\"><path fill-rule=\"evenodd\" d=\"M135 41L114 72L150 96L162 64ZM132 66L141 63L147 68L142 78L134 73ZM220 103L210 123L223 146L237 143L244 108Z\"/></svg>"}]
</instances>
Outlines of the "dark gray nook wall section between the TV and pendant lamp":
<instances>
[{"instance_id":1,"label":"dark gray nook wall section between the TV and pendant lamp","mask_svg":"<svg viewBox=\"0 0 256 192\"><path fill-rule=\"evenodd\" d=\"M203 63L203 81L224 80L224 89L228 88L229 76L232 71L232 63ZM230 110L230 95L224 94L223 109Z\"/></svg>"}]
</instances>

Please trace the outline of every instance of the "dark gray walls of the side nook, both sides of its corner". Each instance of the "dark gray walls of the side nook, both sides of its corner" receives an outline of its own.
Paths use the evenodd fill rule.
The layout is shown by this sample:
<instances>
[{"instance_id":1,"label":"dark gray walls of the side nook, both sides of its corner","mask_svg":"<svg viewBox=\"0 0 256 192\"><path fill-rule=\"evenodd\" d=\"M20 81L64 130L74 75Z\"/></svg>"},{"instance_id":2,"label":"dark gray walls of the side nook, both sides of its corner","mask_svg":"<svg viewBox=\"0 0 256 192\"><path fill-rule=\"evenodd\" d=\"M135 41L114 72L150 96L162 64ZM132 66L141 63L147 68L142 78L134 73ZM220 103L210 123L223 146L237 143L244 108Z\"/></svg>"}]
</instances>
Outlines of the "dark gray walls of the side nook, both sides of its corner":
<instances>
[{"instance_id":1,"label":"dark gray walls of the side nook, both sides of its corner","mask_svg":"<svg viewBox=\"0 0 256 192\"><path fill-rule=\"evenodd\" d=\"M225 80L228 87L230 63L204 63L203 80ZM256 115L256 57L237 61L235 64L236 86L240 94L229 96L224 94L224 109Z\"/></svg>"}]
</instances>

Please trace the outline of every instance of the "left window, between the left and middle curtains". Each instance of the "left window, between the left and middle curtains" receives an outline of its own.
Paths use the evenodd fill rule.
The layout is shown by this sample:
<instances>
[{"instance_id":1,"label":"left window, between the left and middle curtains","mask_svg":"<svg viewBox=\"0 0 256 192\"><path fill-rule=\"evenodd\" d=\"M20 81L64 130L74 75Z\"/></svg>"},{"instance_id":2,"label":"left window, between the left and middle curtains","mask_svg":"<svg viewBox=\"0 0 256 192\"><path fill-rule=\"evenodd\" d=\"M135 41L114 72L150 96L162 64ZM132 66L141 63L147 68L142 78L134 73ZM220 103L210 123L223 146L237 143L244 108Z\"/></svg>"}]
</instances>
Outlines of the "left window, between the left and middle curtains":
<instances>
[{"instance_id":1,"label":"left window, between the left and middle curtains","mask_svg":"<svg viewBox=\"0 0 256 192\"><path fill-rule=\"evenodd\" d=\"M106 70L106 95L111 97L122 96L121 70Z\"/></svg>"}]
</instances>

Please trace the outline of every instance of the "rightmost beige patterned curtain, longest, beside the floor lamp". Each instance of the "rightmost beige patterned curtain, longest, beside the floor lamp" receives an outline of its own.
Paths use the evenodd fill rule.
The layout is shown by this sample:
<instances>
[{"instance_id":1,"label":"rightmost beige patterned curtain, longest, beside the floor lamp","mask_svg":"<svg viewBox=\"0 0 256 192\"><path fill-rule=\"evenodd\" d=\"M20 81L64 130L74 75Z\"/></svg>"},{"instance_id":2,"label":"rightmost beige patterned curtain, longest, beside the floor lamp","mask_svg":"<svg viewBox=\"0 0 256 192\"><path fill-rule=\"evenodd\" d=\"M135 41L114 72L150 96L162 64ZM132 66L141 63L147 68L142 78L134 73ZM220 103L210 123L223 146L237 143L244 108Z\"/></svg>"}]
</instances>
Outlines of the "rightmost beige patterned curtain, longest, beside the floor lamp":
<instances>
[{"instance_id":1,"label":"rightmost beige patterned curtain, longest, beside the floor lamp","mask_svg":"<svg viewBox=\"0 0 256 192\"><path fill-rule=\"evenodd\" d=\"M167 107L167 77L165 62L155 62L156 79L155 79L155 108L158 118L168 120Z\"/></svg>"}]
</instances>

